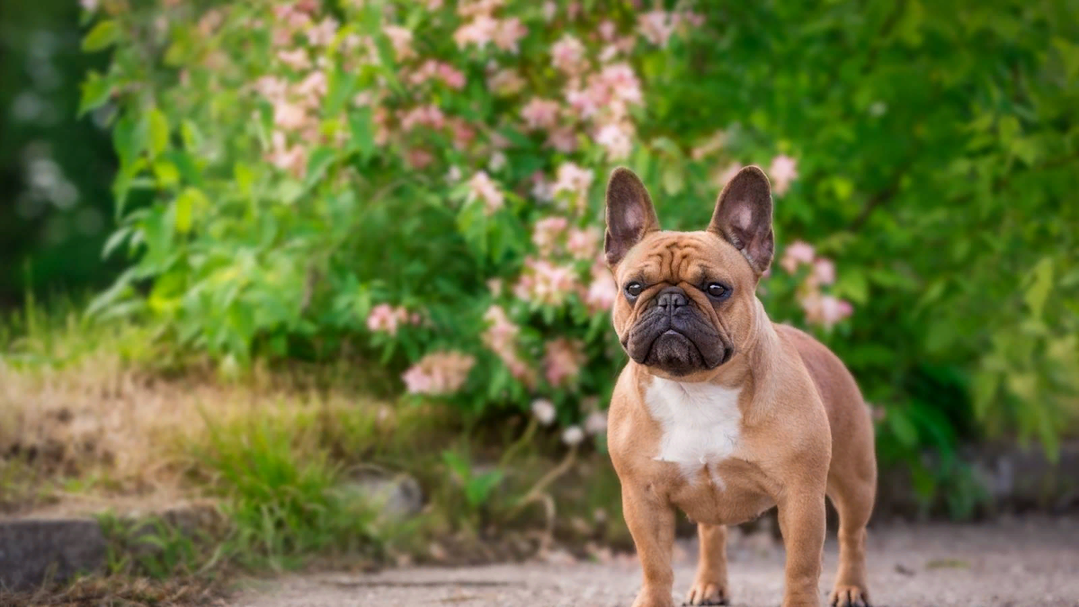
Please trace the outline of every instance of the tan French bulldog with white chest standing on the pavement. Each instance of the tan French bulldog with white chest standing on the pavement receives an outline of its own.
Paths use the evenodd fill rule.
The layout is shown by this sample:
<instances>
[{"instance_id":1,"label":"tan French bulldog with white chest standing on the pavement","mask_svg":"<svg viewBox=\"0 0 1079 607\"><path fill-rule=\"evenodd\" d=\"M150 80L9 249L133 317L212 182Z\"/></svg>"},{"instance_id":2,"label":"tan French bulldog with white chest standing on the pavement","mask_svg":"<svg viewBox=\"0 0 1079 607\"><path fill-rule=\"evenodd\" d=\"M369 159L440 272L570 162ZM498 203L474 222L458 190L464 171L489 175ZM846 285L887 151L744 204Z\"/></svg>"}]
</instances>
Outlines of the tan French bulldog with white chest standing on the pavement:
<instances>
[{"instance_id":1,"label":"tan French bulldog with white chest standing on the pavement","mask_svg":"<svg viewBox=\"0 0 1079 607\"><path fill-rule=\"evenodd\" d=\"M634 607L673 605L675 509L700 539L686 603L725 605L725 526L773 505L787 550L783 607L819 607L825 496L839 514L831 605L869 605L873 422L839 359L774 324L756 298L775 253L771 211L768 178L755 166L723 188L699 232L661 231L631 171L615 170L607 184L613 323L630 359L611 399L607 441L643 569Z\"/></svg>"}]
</instances>

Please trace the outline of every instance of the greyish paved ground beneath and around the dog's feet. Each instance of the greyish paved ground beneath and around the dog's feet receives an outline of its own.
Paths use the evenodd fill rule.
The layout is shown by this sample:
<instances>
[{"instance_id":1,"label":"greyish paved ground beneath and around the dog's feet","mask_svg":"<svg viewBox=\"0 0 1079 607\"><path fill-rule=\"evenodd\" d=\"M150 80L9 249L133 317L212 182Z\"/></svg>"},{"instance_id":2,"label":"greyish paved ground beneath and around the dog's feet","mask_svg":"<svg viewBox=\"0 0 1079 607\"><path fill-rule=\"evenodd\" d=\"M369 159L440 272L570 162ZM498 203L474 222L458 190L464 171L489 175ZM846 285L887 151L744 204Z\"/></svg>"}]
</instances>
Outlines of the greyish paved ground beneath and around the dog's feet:
<instances>
[{"instance_id":1,"label":"greyish paved ground beneath and around the dog's feet","mask_svg":"<svg viewBox=\"0 0 1079 607\"><path fill-rule=\"evenodd\" d=\"M757 534L761 536L761 534ZM776 607L781 548L750 536L730 554L735 606ZM675 555L675 604L692 581L696 547ZM992 524L890 524L871 529L870 590L875 607L1079 607L1079 518L1011 518ZM629 606L640 584L632 556L602 562L420 567L380 574L305 574L250 582L233 607ZM835 575L825 547L821 599Z\"/></svg>"}]
</instances>

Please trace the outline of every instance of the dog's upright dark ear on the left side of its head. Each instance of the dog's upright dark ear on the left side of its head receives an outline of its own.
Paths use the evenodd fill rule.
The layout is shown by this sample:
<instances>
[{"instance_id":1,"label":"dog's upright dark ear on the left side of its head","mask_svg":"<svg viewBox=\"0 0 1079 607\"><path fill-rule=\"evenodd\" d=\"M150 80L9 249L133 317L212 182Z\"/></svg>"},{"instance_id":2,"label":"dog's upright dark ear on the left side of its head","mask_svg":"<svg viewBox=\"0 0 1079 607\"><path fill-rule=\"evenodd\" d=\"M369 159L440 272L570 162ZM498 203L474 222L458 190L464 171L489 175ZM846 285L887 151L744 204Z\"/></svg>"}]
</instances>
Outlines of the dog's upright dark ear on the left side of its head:
<instances>
[{"instance_id":1,"label":"dog's upright dark ear on the left side of its head","mask_svg":"<svg viewBox=\"0 0 1079 607\"><path fill-rule=\"evenodd\" d=\"M648 190L632 171L615 168L607 181L606 234L603 249L607 266L615 267L648 232L659 229Z\"/></svg>"}]
</instances>

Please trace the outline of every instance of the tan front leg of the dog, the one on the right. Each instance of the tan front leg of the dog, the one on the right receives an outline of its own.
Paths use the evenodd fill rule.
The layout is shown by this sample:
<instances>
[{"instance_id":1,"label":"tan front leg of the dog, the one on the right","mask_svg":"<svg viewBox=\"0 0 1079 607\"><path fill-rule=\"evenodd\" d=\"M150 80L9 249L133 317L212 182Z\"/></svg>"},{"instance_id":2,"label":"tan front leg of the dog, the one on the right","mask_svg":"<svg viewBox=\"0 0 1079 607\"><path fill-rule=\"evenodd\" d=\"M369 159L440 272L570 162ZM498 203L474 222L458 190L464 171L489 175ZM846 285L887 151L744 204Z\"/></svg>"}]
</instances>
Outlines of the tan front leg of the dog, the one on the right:
<instances>
[{"instance_id":1,"label":"tan front leg of the dog, the one on the right","mask_svg":"<svg viewBox=\"0 0 1079 607\"><path fill-rule=\"evenodd\" d=\"M779 500L779 529L787 549L783 607L820 607L824 525L823 487L788 490Z\"/></svg>"}]
</instances>

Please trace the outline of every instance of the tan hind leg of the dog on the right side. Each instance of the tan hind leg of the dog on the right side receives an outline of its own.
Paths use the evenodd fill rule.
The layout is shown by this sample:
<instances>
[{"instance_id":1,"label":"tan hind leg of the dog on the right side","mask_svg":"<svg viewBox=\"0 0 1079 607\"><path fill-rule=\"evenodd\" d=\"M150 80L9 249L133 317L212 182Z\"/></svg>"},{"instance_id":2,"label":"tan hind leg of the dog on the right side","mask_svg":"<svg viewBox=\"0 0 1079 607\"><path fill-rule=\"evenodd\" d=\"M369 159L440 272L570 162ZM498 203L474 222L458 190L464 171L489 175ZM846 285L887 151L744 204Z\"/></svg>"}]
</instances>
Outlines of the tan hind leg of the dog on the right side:
<instances>
[{"instance_id":1,"label":"tan hind leg of the dog on the right side","mask_svg":"<svg viewBox=\"0 0 1079 607\"><path fill-rule=\"evenodd\" d=\"M855 458L852 461L857 463L851 468L858 470L833 473L828 483L828 497L839 513L839 569L829 601L835 607L870 605L865 579L865 524L873 513L876 467L872 459Z\"/></svg>"}]
</instances>

